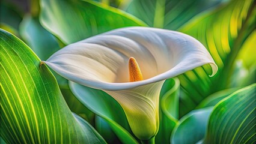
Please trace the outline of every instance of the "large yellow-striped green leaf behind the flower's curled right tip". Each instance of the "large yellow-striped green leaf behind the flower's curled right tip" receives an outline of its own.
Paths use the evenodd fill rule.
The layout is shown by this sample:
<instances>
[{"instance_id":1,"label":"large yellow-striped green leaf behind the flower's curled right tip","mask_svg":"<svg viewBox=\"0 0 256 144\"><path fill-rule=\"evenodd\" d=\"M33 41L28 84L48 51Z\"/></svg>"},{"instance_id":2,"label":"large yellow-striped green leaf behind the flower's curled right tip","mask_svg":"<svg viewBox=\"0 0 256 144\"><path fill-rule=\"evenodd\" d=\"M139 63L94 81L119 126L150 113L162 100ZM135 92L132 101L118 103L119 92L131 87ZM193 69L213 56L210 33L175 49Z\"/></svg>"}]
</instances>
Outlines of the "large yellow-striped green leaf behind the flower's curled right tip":
<instances>
[{"instance_id":1,"label":"large yellow-striped green leaf behind the flower's curled right tip","mask_svg":"<svg viewBox=\"0 0 256 144\"><path fill-rule=\"evenodd\" d=\"M201 41L219 67L215 77L209 77L208 65L179 76L181 116L194 109L207 95L229 87L234 60L255 29L255 14L255 1L233 0L195 17L179 29Z\"/></svg>"}]
</instances>

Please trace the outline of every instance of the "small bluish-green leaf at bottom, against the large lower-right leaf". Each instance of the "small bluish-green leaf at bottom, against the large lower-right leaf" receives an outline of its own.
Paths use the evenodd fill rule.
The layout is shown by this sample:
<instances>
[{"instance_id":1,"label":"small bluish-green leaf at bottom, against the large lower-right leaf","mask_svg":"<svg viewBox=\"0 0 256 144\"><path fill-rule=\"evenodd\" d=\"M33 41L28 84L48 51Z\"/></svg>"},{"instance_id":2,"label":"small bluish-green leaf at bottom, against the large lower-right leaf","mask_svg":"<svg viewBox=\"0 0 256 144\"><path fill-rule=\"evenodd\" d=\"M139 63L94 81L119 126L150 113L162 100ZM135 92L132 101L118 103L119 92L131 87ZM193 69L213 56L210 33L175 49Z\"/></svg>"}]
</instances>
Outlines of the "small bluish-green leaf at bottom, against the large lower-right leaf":
<instances>
[{"instance_id":1,"label":"small bluish-green leaf at bottom, against the large lower-right leaf","mask_svg":"<svg viewBox=\"0 0 256 144\"><path fill-rule=\"evenodd\" d=\"M172 131L171 143L197 143L204 138L213 107L193 110L180 119Z\"/></svg>"}]
</instances>

